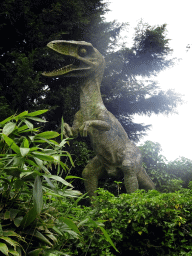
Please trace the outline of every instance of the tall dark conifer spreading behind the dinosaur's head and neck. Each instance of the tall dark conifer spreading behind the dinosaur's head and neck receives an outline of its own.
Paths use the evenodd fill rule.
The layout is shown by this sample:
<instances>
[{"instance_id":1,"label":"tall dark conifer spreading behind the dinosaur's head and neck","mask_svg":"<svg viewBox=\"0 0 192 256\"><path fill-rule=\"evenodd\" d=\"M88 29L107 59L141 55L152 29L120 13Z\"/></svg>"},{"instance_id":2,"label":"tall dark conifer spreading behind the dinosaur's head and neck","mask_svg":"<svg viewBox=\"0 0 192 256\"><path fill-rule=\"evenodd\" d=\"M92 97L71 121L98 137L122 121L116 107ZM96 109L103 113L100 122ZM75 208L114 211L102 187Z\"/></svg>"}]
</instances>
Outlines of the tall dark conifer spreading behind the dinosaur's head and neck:
<instances>
[{"instance_id":1,"label":"tall dark conifer spreading behind the dinosaur's head and neck","mask_svg":"<svg viewBox=\"0 0 192 256\"><path fill-rule=\"evenodd\" d=\"M130 138L139 138L148 128L134 124L135 113L169 113L180 102L177 94L141 80L171 64L165 25L139 24L133 47L116 50L124 25L105 22L107 6L101 0L3 0L0 9L0 119L16 111L49 108L46 129L57 129L62 115L71 124L79 108L76 81L41 76L41 71L65 63L46 48L56 39L91 42L105 56L103 99Z\"/></svg>"}]
</instances>

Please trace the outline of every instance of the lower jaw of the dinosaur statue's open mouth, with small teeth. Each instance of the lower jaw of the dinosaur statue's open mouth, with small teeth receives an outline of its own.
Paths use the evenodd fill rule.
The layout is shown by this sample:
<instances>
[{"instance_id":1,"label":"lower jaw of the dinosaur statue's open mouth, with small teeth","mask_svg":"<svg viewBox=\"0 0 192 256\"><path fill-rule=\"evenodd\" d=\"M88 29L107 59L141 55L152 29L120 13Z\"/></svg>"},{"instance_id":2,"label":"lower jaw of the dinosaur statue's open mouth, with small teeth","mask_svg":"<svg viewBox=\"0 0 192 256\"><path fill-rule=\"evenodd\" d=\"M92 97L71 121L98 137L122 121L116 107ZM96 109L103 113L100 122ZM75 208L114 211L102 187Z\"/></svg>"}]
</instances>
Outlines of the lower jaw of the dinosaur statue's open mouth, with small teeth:
<instances>
[{"instance_id":1,"label":"lower jaw of the dinosaur statue's open mouth, with small teeth","mask_svg":"<svg viewBox=\"0 0 192 256\"><path fill-rule=\"evenodd\" d=\"M67 65L62 66L61 68L56 68L52 71L45 71L42 73L44 76L60 76L60 75L65 75L71 72L79 72L83 70L89 70L91 69L89 65L84 63L83 61L80 61L76 58L68 58L67 60L65 59L65 63ZM59 64L61 66L61 64Z\"/></svg>"}]
</instances>

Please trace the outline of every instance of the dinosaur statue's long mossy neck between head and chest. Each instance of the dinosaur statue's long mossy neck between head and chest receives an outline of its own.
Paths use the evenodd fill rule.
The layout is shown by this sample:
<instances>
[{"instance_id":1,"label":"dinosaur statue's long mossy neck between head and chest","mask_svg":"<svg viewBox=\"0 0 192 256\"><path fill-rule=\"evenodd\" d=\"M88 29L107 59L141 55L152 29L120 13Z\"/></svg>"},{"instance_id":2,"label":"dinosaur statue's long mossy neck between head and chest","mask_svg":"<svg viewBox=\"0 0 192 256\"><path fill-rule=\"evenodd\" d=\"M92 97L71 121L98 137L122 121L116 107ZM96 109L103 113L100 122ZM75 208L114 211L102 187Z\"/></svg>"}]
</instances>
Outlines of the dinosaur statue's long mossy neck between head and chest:
<instances>
[{"instance_id":1,"label":"dinosaur statue's long mossy neck between head and chest","mask_svg":"<svg viewBox=\"0 0 192 256\"><path fill-rule=\"evenodd\" d=\"M81 81L80 107L87 116L92 116L97 109L105 109L100 92L103 72L95 72Z\"/></svg>"}]
</instances>

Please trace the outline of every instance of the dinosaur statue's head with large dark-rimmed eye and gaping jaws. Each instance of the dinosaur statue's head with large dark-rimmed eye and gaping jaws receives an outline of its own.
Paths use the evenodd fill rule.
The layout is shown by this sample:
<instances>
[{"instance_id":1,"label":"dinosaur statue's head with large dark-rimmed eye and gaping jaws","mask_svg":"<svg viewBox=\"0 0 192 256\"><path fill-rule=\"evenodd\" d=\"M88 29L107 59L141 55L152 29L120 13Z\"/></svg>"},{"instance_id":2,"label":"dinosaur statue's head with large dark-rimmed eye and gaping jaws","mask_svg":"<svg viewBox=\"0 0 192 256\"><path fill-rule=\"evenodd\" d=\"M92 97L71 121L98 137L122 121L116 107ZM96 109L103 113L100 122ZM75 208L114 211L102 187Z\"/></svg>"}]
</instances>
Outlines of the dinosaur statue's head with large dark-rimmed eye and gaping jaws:
<instances>
[{"instance_id":1,"label":"dinosaur statue's head with large dark-rimmed eye and gaping jaws","mask_svg":"<svg viewBox=\"0 0 192 256\"><path fill-rule=\"evenodd\" d=\"M44 76L89 76L100 67L104 67L103 56L95 49L91 43L84 41L55 40L47 44L52 50L63 54L70 63L58 70L43 72Z\"/></svg>"}]
</instances>

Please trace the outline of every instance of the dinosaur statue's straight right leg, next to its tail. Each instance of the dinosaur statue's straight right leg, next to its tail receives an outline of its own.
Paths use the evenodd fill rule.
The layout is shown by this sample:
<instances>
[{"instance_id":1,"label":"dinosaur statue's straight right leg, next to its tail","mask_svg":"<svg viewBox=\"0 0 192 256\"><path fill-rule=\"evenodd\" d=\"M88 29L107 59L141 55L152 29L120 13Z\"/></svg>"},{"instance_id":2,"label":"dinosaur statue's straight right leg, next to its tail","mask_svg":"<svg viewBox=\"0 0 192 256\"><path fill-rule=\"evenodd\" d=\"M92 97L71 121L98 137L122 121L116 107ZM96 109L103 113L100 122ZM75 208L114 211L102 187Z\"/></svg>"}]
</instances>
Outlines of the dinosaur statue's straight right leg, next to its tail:
<instances>
[{"instance_id":1,"label":"dinosaur statue's straight right leg, next to its tail","mask_svg":"<svg viewBox=\"0 0 192 256\"><path fill-rule=\"evenodd\" d=\"M124 185L127 193L132 193L139 188L135 163L131 160L124 160L121 170L124 174Z\"/></svg>"}]
</instances>

